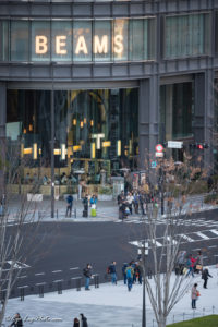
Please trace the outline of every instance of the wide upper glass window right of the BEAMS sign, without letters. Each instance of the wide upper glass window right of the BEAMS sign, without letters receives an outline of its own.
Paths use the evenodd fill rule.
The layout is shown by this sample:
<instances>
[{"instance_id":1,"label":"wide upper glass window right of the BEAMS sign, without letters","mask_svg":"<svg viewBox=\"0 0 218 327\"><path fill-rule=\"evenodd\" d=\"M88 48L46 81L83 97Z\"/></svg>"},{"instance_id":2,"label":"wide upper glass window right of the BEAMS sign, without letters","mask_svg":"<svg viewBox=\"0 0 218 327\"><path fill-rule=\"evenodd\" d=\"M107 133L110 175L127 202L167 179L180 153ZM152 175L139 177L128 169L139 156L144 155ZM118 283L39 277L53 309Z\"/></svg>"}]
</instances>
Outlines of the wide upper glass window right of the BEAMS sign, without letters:
<instances>
[{"instance_id":1,"label":"wide upper glass window right of the BEAMS sign, without letters","mask_svg":"<svg viewBox=\"0 0 218 327\"><path fill-rule=\"evenodd\" d=\"M209 53L209 14L166 17L166 58Z\"/></svg>"}]
</instances>

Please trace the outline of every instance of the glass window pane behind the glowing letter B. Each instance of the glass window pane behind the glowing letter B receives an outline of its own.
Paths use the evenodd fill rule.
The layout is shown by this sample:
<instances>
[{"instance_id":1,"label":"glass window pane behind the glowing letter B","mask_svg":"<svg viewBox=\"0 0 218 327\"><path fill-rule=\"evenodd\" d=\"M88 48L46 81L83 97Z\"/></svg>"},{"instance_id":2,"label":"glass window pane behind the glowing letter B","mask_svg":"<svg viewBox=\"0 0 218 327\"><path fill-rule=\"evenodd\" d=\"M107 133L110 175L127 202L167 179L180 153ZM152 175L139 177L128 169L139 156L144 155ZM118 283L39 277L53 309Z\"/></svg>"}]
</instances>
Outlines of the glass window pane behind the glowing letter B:
<instances>
[{"instance_id":1,"label":"glass window pane behind the glowing letter B","mask_svg":"<svg viewBox=\"0 0 218 327\"><path fill-rule=\"evenodd\" d=\"M50 61L50 22L32 22L32 61Z\"/></svg>"}]
</instances>

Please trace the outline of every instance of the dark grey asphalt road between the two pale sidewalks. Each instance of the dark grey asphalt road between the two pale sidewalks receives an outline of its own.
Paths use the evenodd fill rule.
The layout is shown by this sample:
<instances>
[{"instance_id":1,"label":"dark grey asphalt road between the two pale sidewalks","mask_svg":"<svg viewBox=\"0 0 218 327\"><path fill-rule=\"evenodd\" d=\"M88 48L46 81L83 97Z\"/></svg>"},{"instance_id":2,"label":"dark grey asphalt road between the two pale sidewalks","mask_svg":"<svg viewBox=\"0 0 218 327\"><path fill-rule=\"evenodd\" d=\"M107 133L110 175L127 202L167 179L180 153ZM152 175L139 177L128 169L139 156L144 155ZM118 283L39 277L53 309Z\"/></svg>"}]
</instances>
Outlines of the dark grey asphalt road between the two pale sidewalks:
<instances>
[{"instance_id":1,"label":"dark grey asphalt road between the two pale sidewalks","mask_svg":"<svg viewBox=\"0 0 218 327\"><path fill-rule=\"evenodd\" d=\"M182 233L189 242L182 244L187 253L196 254L203 250L205 265L218 263L218 210L196 214L187 219ZM147 225L140 220L125 222L43 222L38 227L25 225L23 235L26 257L24 268L12 292L20 293L19 287L25 286L25 293L37 293L38 286L45 283L45 291L75 287L76 277L82 276L87 263L93 265L94 274L105 281L106 268L116 261L118 275L121 267L137 256L134 241L141 240ZM11 227L13 231L14 227ZM157 234L161 249L164 219L159 219ZM133 243L130 243L133 242ZM148 256L148 262L150 257ZM82 278L82 284L83 284Z\"/></svg>"}]
</instances>

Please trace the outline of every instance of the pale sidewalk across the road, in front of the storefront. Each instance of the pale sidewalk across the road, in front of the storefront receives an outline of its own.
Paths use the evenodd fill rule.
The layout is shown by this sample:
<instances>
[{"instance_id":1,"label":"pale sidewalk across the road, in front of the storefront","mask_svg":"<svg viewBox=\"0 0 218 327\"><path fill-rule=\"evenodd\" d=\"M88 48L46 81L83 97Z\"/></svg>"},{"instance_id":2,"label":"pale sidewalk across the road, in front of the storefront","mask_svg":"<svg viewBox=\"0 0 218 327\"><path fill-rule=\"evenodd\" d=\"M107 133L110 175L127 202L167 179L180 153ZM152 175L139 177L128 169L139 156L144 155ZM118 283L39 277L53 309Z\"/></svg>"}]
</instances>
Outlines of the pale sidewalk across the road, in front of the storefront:
<instances>
[{"instance_id":1,"label":"pale sidewalk across the road, in front of the storefront","mask_svg":"<svg viewBox=\"0 0 218 327\"><path fill-rule=\"evenodd\" d=\"M190 210L190 205L192 205L192 211L206 211L217 208L218 206L204 204L204 197L207 194L203 195L192 195L189 197L186 204L183 207L182 214L185 214L186 210ZM35 213L36 220L40 218L41 221L72 221L72 222L104 222L104 221L117 221L119 217L118 204L117 201L98 201L97 203L97 216L90 217L90 209L88 218L83 217L83 204L82 201L74 201L72 217L65 217L66 202L64 199L59 199L55 202L55 218L51 218L51 202L46 198L43 202L38 203L28 203L31 215ZM10 220L13 220L13 217L19 208L19 197L10 204ZM165 213L167 209L167 203L165 202ZM165 218L161 216L160 208L158 213L159 218ZM135 215L133 209L133 215L129 216L129 219L141 219L142 215Z\"/></svg>"}]
</instances>

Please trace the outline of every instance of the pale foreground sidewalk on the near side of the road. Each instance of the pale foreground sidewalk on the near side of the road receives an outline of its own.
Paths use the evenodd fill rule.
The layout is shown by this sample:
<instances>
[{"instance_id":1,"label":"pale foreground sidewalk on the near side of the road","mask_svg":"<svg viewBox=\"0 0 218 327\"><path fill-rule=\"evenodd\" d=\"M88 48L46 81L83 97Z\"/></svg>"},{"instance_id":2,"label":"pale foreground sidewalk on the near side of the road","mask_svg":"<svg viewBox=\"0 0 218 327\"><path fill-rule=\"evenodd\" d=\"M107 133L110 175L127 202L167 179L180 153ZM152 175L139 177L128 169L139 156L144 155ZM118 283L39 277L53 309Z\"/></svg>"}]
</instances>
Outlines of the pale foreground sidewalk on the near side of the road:
<instances>
[{"instance_id":1,"label":"pale foreground sidewalk on the near side of the road","mask_svg":"<svg viewBox=\"0 0 218 327\"><path fill-rule=\"evenodd\" d=\"M190 277L190 290L173 307L168 324L213 313L218 314L218 269L211 266L209 272L214 278L209 278L208 289L203 289L201 276ZM174 279L173 275L172 283ZM191 287L194 282L198 283L201 293L195 311L191 308ZM117 286L100 284L99 289L92 288L89 292L84 290L77 292L74 289L63 291L62 294L47 293L45 298L26 296L24 302L21 302L20 299L11 299L5 317L20 312L23 318L27 317L24 322L25 327L69 327L73 326L74 317L84 313L88 319L88 327L140 327L142 326L142 286L134 284L132 291L129 292L126 286L120 281ZM48 318L45 322L46 317ZM49 322L52 318L59 320ZM31 319L36 320L29 322ZM147 294L146 322L147 327L157 327ZM8 325L5 324L5 326Z\"/></svg>"}]
</instances>

